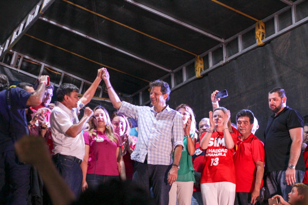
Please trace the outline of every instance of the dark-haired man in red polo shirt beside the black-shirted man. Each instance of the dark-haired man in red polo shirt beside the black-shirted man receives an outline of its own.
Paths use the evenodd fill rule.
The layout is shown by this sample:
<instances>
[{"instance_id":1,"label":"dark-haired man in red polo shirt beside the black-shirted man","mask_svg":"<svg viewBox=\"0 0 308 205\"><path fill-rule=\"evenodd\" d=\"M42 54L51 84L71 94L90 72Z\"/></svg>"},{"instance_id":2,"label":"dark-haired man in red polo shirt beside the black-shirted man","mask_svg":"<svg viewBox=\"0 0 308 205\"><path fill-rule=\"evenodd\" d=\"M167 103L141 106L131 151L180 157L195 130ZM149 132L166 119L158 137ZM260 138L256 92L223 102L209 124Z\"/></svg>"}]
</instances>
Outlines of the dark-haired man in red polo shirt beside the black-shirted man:
<instances>
[{"instance_id":1,"label":"dark-haired man in red polo shirt beside the black-shirted man","mask_svg":"<svg viewBox=\"0 0 308 205\"><path fill-rule=\"evenodd\" d=\"M250 110L241 110L236 115L237 151L233 155L236 171L235 203L255 204L263 185L264 144L251 133L254 116Z\"/></svg>"}]
</instances>

